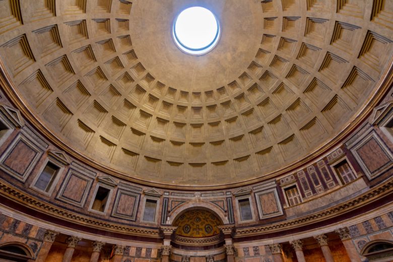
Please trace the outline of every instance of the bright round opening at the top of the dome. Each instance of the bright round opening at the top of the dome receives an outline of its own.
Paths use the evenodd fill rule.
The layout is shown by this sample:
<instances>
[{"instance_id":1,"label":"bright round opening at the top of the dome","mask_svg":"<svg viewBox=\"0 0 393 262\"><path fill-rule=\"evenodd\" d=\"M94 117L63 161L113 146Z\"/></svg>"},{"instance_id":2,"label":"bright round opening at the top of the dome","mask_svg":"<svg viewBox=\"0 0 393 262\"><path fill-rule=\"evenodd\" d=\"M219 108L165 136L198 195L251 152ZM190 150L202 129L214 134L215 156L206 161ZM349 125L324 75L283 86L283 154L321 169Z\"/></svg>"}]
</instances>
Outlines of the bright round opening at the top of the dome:
<instances>
[{"instance_id":1,"label":"bright round opening at the top of the dome","mask_svg":"<svg viewBox=\"0 0 393 262\"><path fill-rule=\"evenodd\" d=\"M220 25L215 15L203 7L183 10L172 30L176 45L188 54L204 54L212 50L220 38Z\"/></svg>"}]
</instances>

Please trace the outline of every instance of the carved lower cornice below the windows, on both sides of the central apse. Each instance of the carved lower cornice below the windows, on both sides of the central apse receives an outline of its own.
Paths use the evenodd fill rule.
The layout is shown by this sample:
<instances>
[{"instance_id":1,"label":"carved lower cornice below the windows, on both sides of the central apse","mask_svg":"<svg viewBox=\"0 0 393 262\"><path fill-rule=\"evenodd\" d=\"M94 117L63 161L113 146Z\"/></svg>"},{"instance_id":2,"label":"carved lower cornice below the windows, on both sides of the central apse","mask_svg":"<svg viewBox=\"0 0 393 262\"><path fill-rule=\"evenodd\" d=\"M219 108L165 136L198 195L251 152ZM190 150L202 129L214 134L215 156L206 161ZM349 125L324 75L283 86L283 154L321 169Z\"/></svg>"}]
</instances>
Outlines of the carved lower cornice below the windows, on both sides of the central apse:
<instances>
[{"instance_id":1,"label":"carved lower cornice below the windows, on both sides of the central apse","mask_svg":"<svg viewBox=\"0 0 393 262\"><path fill-rule=\"evenodd\" d=\"M315 212L313 214L306 215L297 219L287 220L270 225L237 228L234 232L234 238L264 235L265 233L279 232L291 228L318 223L320 221L340 216L364 205L373 203L379 199L388 196L388 194L392 193L392 191L393 177L358 195L357 197L354 197L329 209ZM42 200L33 197L32 195L24 192L23 190L15 188L13 185L9 184L3 179L0 179L0 195L3 195L5 198L13 202L19 203L23 206L27 206L46 215L72 223L84 225L90 228L101 229L109 232L121 233L131 236L143 236L148 238L162 239L159 228L156 229L126 226L119 223L107 222L81 215L72 211L68 211L55 205L43 202ZM169 229L171 231L173 230L172 227Z\"/></svg>"}]
</instances>

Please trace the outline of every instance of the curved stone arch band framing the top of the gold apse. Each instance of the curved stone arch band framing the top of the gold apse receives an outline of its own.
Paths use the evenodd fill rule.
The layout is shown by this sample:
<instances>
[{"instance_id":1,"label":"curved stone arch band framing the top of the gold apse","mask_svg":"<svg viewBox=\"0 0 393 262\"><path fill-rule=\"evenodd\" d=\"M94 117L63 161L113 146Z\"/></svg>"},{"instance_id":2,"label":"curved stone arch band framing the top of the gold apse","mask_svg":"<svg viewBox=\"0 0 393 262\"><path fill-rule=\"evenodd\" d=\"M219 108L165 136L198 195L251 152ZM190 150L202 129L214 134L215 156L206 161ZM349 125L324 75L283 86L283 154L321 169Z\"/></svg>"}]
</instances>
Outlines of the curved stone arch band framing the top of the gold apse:
<instances>
[{"instance_id":1,"label":"curved stone arch band framing the top of the gold apse","mask_svg":"<svg viewBox=\"0 0 393 262\"><path fill-rule=\"evenodd\" d=\"M172 225L173 222L175 222L176 219L179 218L186 211L197 210L197 209L203 209L203 210L206 210L206 211L209 211L209 212L215 214L221 220L223 225L229 224L227 213L225 211L223 211L222 209L220 209L219 207L217 207L216 205L206 202L206 201L187 202L187 203L179 205L178 207L176 207L173 210L173 212L171 212L169 214L168 219L167 219L167 224Z\"/></svg>"}]
</instances>

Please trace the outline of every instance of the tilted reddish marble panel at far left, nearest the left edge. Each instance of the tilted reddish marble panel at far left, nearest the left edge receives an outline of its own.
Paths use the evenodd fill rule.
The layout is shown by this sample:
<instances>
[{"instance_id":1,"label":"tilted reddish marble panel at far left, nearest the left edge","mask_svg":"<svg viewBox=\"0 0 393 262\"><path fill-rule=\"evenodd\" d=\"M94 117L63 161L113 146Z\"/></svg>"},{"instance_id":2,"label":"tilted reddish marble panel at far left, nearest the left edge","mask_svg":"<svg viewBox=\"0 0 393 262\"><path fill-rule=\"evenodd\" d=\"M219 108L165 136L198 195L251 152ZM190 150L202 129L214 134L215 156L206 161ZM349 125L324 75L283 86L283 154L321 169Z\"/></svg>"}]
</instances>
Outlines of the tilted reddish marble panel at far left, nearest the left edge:
<instances>
[{"instance_id":1,"label":"tilted reddish marble panel at far left, nearest the left edge","mask_svg":"<svg viewBox=\"0 0 393 262\"><path fill-rule=\"evenodd\" d=\"M36 155L36 151L31 149L25 142L19 141L4 160L4 165L23 175Z\"/></svg>"}]
</instances>

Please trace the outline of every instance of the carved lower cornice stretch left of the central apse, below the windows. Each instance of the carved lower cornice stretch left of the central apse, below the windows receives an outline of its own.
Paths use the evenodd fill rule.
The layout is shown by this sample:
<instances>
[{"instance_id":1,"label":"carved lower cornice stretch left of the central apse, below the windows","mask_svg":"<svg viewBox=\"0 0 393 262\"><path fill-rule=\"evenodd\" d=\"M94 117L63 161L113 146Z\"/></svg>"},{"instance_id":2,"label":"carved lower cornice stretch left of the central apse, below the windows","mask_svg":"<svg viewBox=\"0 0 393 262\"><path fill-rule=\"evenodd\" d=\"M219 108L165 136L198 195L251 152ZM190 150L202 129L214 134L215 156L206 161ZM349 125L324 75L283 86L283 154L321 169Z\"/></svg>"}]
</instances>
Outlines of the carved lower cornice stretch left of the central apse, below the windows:
<instances>
[{"instance_id":1,"label":"carved lower cornice stretch left of the central apse, below the windows","mask_svg":"<svg viewBox=\"0 0 393 262\"><path fill-rule=\"evenodd\" d=\"M6 197L7 199L20 203L23 206L32 208L35 211L62 220L66 220L72 223L80 224L94 229L102 229L102 230L121 233L121 234L129 234L133 236L135 235L135 236L161 239L158 228L154 229L154 228L126 226L120 223L103 221L100 219L81 215L69 210L65 210L55 205L43 202L42 200L35 198L32 195L24 192L23 190L20 190L14 187L13 185L7 183L3 179L0 179L0 194Z\"/></svg>"}]
</instances>

